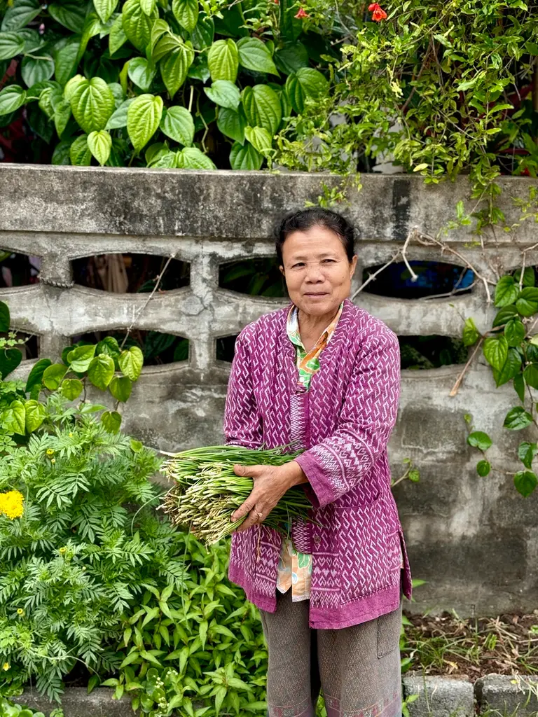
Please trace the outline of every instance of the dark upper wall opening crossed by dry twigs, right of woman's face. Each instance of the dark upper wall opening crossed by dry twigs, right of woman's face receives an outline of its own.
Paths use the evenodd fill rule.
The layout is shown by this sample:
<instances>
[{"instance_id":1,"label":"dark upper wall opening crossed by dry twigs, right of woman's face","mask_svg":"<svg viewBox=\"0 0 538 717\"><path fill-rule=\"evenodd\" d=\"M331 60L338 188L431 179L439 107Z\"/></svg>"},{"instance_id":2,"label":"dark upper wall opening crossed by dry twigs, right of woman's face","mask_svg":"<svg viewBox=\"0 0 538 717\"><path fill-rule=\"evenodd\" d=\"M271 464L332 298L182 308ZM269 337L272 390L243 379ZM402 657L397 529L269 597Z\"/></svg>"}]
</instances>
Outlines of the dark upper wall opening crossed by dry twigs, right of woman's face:
<instances>
[{"instance_id":1,"label":"dark upper wall opening crossed by dry twigs, right of woman's face","mask_svg":"<svg viewBox=\"0 0 538 717\"><path fill-rule=\"evenodd\" d=\"M404 262L395 262L379 272L365 288L370 294L399 299L420 299L437 294L471 292L474 272L448 262L427 262L412 260L412 270L418 275L415 282ZM383 265L367 267L362 272L362 281L374 274Z\"/></svg>"}]
</instances>

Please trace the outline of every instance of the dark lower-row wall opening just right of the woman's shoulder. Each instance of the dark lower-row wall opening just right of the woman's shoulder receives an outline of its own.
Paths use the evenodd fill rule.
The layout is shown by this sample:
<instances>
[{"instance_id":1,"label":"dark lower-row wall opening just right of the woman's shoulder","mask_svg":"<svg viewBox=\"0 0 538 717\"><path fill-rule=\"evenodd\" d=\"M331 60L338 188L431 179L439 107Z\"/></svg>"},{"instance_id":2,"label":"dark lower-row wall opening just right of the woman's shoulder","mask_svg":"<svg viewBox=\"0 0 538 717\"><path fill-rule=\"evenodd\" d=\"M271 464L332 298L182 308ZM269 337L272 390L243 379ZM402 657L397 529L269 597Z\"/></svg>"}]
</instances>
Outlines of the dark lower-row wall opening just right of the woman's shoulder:
<instances>
[{"instance_id":1,"label":"dark lower-row wall opening just right of the woman's shoulder","mask_svg":"<svg viewBox=\"0 0 538 717\"><path fill-rule=\"evenodd\" d=\"M402 369L439 369L466 364L468 349L451 336L398 336Z\"/></svg>"}]
</instances>

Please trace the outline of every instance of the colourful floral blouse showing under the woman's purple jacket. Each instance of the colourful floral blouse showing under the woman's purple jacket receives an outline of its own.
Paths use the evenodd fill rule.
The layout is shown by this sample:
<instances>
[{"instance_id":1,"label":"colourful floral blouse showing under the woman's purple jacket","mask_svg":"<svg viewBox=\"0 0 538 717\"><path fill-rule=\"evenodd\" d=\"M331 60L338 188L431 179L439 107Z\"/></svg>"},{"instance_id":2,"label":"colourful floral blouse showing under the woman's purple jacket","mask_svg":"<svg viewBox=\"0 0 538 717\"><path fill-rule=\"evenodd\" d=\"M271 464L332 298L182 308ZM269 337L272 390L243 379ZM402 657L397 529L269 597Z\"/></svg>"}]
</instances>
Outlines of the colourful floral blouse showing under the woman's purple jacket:
<instances>
[{"instance_id":1,"label":"colourful floral blouse showing under the woman's purple jacket","mask_svg":"<svg viewBox=\"0 0 538 717\"><path fill-rule=\"evenodd\" d=\"M315 345L306 351L301 341L299 333L298 309L292 306L288 313L288 322L286 331L290 341L296 346L298 383L304 386L306 391L310 387L310 381L313 374L319 369L319 354L324 350L331 340L336 324L344 308L344 302L339 306L338 313L331 321L329 326L321 333ZM278 574L276 587L282 592L288 592L291 588L291 599L293 602L301 602L301 600L310 599L310 584L312 575L312 556L305 553L299 553L293 547L291 540L283 542L280 551L280 561L278 562Z\"/></svg>"}]
</instances>

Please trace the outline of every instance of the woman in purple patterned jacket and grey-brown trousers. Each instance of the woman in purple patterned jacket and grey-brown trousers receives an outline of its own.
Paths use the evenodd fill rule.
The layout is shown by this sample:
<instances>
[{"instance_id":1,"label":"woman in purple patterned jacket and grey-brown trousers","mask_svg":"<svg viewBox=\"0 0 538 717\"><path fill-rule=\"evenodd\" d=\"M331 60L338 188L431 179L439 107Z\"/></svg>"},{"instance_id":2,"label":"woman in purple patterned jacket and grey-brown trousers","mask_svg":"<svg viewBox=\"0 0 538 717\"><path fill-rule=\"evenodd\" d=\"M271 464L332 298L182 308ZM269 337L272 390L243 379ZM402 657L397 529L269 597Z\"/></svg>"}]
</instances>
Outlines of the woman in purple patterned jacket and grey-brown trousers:
<instances>
[{"instance_id":1,"label":"woman in purple patterned jacket and grey-brown trousers","mask_svg":"<svg viewBox=\"0 0 538 717\"><path fill-rule=\"evenodd\" d=\"M410 569L390 490L387 441L400 395L397 337L349 300L354 229L306 209L278 229L291 305L237 337L225 409L228 444L303 449L278 467L235 466L254 480L232 520L230 580L260 608L270 717L401 714L402 592ZM304 485L312 522L291 539L263 521Z\"/></svg>"}]
</instances>

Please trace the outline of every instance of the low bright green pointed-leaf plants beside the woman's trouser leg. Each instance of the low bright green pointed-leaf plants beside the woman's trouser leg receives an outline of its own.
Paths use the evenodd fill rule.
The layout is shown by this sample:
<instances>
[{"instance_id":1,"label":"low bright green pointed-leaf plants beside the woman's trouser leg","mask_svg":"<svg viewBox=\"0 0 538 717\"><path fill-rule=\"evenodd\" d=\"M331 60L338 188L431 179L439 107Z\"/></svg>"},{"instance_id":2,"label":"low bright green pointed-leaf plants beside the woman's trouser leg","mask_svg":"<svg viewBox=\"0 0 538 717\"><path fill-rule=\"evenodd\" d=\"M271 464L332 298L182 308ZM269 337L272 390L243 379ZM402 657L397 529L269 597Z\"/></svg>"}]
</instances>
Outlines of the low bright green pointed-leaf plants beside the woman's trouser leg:
<instances>
[{"instance_id":1,"label":"low bright green pointed-leaf plants beside the woman's trouser leg","mask_svg":"<svg viewBox=\"0 0 538 717\"><path fill-rule=\"evenodd\" d=\"M181 591L148 589L128 614L118 676L103 685L131 693L153 717L264 714L267 650L258 610L227 581L228 546L206 551L188 534ZM203 708L195 708L202 703Z\"/></svg>"}]
</instances>

